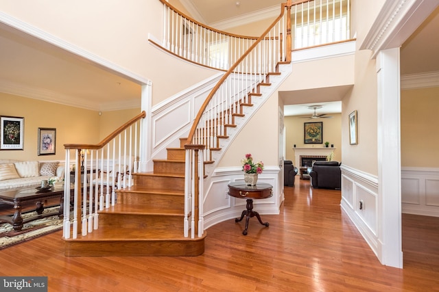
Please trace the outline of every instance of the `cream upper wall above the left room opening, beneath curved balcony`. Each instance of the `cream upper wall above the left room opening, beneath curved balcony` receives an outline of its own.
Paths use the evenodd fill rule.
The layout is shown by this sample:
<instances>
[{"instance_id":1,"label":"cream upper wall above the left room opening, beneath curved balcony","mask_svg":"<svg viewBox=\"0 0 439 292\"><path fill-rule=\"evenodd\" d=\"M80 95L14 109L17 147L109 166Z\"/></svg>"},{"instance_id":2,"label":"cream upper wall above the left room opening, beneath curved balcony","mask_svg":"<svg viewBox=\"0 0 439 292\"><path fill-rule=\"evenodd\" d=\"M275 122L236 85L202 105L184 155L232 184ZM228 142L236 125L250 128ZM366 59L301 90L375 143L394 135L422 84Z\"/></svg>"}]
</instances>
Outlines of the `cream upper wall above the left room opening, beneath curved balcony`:
<instances>
[{"instance_id":1,"label":"cream upper wall above the left room opening, beneath curved balcony","mask_svg":"<svg viewBox=\"0 0 439 292\"><path fill-rule=\"evenodd\" d=\"M160 1L130 0L121 5L109 0L102 5L100 1L46 0L42 5L4 0L1 12L149 79L153 105L217 73L163 53L148 42L148 34L163 38Z\"/></svg>"}]
</instances>

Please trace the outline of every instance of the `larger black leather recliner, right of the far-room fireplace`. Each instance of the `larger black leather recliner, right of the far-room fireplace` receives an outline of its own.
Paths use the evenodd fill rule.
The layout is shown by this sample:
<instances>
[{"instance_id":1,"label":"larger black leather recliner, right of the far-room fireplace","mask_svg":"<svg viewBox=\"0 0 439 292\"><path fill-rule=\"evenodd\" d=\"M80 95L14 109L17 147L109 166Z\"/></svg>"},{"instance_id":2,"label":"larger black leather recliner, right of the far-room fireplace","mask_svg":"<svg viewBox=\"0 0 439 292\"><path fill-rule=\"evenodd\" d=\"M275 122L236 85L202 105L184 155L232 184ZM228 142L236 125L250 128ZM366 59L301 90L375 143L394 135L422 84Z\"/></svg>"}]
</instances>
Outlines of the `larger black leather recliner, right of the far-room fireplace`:
<instances>
[{"instance_id":1,"label":"larger black leather recliner, right of the far-room fireplace","mask_svg":"<svg viewBox=\"0 0 439 292\"><path fill-rule=\"evenodd\" d=\"M309 181L313 188L340 189L342 171L338 161L316 161L308 168Z\"/></svg>"}]
</instances>

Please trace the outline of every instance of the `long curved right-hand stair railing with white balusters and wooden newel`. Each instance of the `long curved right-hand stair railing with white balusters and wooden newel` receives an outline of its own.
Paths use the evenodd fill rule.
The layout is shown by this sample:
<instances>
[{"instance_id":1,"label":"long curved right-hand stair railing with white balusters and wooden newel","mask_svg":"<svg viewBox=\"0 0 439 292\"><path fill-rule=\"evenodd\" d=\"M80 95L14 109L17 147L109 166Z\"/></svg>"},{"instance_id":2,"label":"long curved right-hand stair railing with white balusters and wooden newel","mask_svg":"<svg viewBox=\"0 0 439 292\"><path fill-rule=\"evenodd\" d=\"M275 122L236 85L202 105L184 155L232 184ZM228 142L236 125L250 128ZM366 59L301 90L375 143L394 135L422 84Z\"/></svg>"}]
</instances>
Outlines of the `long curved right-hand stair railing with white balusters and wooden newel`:
<instances>
[{"instance_id":1,"label":"long curved right-hand stair railing with white balusters and wooden newel","mask_svg":"<svg viewBox=\"0 0 439 292\"><path fill-rule=\"evenodd\" d=\"M218 81L198 111L185 149L186 189L185 236L202 236L204 221L202 215L202 178L204 163L213 161L212 151L219 149L219 139L226 138L226 128L233 125L235 116L242 114L241 107L251 106L251 96L259 95L260 86L266 84L270 72L276 72L279 63L285 60L283 35L285 34L284 11L287 3L281 4L281 14L252 43L237 62Z\"/></svg>"}]
</instances>

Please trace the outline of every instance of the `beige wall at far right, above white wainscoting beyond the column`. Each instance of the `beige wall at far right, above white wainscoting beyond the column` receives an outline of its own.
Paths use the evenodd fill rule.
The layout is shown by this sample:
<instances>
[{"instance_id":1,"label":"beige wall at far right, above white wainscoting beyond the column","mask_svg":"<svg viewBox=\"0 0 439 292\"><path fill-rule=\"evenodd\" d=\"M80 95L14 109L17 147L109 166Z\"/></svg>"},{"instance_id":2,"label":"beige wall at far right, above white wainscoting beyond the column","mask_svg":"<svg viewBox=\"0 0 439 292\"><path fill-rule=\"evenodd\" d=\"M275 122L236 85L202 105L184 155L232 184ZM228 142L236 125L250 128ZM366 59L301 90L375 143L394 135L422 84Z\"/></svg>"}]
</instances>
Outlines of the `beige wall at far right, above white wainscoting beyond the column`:
<instances>
[{"instance_id":1,"label":"beige wall at far right, above white wainscoting beyond the column","mask_svg":"<svg viewBox=\"0 0 439 292\"><path fill-rule=\"evenodd\" d=\"M401 91L401 166L439 168L439 88Z\"/></svg>"}]
</instances>

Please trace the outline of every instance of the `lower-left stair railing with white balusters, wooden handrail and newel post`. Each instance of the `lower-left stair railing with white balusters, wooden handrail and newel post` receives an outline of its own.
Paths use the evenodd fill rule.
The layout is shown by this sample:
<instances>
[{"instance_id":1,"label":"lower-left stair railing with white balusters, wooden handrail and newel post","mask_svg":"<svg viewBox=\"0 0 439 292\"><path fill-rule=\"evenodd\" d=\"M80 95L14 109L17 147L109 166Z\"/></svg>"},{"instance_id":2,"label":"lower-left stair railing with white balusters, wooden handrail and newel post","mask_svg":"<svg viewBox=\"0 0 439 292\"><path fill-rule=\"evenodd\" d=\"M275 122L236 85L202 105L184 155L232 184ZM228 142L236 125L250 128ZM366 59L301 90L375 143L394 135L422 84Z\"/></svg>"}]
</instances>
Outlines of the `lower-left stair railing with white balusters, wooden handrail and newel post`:
<instances>
[{"instance_id":1,"label":"lower-left stair railing with white balusters, wooden handrail and newel post","mask_svg":"<svg viewBox=\"0 0 439 292\"><path fill-rule=\"evenodd\" d=\"M132 185L132 172L139 169L138 152L142 146L139 135L141 119L145 116L145 111L142 111L99 144L64 144L62 236L65 239L71 236L76 239L79 232L84 236L96 230L99 227L97 211L115 205L116 189ZM71 152L75 161L73 170L70 167Z\"/></svg>"}]
</instances>

